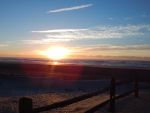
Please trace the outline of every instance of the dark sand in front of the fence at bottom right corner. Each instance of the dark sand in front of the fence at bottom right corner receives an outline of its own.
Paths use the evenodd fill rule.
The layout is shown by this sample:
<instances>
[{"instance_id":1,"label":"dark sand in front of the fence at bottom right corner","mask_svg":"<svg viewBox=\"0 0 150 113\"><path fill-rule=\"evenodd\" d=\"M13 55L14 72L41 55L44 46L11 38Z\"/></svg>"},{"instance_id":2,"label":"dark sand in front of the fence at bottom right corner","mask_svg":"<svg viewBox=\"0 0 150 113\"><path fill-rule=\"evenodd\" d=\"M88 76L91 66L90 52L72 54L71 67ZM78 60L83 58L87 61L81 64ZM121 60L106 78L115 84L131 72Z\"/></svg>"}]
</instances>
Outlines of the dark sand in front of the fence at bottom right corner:
<instances>
[{"instance_id":1,"label":"dark sand in front of the fence at bottom right corner","mask_svg":"<svg viewBox=\"0 0 150 113\"><path fill-rule=\"evenodd\" d=\"M109 113L108 105L96 113ZM116 101L116 113L150 113L150 90L141 91L138 98L130 95Z\"/></svg>"}]
</instances>

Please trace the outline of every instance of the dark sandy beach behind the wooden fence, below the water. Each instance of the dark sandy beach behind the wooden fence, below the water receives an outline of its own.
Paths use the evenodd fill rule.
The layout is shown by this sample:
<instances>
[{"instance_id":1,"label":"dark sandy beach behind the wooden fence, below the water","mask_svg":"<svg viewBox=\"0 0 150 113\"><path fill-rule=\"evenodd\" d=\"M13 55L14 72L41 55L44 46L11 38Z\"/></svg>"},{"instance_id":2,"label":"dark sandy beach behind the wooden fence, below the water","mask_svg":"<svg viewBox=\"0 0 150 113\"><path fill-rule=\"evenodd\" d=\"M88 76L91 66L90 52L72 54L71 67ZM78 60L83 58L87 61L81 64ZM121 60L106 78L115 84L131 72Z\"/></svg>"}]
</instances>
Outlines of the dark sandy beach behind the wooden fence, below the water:
<instances>
[{"instance_id":1,"label":"dark sandy beach behind the wooden fence, below the water","mask_svg":"<svg viewBox=\"0 0 150 113\"><path fill-rule=\"evenodd\" d=\"M100 90L109 86L110 77L116 73L116 77L128 77L142 71L139 75L145 75L148 77L149 70L140 69L123 69L123 68L104 68L104 67L83 67L83 66L55 66L55 72L60 72L58 77L64 77L61 73L69 73L66 79L60 80L57 78L49 78L46 76L40 76L45 72L47 75L52 70L54 72L54 66L49 65L37 65L37 64L1 64L1 79L0 79L0 111L2 113L18 113L18 104L21 97L28 97L33 99L33 108L50 105L55 102L67 100L85 93L91 93L92 91ZM42 67L42 68L41 68ZM18 70L19 69L19 70ZM38 70L38 71L37 71ZM119 71L118 71L119 70ZM41 72L41 73L40 73ZM70 73L80 75L80 79L72 79ZM132 72L132 73L131 73ZM38 76L37 73L39 74ZM73 74L74 74L73 73ZM97 74L94 75L93 73ZM122 75L123 73L123 75ZM55 75L56 75L55 74ZM107 80L95 79L100 75L106 74ZM131 74L131 75L130 75ZM17 75L17 76L16 76ZM19 76L22 75L22 76ZM83 79L82 75L86 75ZM90 78L93 77L93 80ZM134 76L133 76L134 77ZM140 76L141 78L143 76ZM74 77L73 77L74 78ZM123 78L124 79L124 78ZM146 80L143 79L144 81ZM119 86L120 87L120 86ZM117 88L119 88L117 87ZM143 87L143 85L142 85ZM140 87L140 88L142 88ZM128 88L133 88L133 85L121 86L117 94L126 91ZM149 89L141 90L140 96L135 98L133 95L117 100L116 113L149 113L150 112L150 86ZM95 105L105 101L109 98L108 92L94 96L90 99L83 100L63 108L54 109L45 113L84 113ZM108 105L97 110L97 113L109 113Z\"/></svg>"}]
</instances>

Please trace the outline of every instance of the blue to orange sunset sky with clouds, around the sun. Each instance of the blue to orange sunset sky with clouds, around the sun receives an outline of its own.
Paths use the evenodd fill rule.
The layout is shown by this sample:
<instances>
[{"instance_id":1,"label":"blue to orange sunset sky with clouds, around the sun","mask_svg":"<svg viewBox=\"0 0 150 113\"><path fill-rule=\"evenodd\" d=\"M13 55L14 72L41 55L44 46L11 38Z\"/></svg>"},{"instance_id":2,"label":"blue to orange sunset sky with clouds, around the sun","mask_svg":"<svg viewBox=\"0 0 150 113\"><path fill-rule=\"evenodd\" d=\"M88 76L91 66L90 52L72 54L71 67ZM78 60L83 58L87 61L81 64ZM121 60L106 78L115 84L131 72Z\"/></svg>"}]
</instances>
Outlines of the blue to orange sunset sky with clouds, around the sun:
<instances>
[{"instance_id":1,"label":"blue to orange sunset sky with clouds, around the sun","mask_svg":"<svg viewBox=\"0 0 150 113\"><path fill-rule=\"evenodd\" d=\"M150 59L150 0L0 0L0 56Z\"/></svg>"}]
</instances>

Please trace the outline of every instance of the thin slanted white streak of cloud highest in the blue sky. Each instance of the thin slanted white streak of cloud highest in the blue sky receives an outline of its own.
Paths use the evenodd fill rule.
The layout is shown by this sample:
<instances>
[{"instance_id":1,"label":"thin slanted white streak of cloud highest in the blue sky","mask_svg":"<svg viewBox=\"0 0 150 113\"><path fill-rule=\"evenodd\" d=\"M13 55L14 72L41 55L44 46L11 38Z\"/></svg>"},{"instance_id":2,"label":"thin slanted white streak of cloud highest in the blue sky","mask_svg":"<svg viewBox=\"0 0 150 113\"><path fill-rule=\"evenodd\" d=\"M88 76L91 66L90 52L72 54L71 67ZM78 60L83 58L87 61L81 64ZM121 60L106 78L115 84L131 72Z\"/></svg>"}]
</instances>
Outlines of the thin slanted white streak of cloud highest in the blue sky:
<instances>
[{"instance_id":1,"label":"thin slanted white streak of cloud highest in the blue sky","mask_svg":"<svg viewBox=\"0 0 150 113\"><path fill-rule=\"evenodd\" d=\"M64 11L79 10L79 9L83 9L83 8L87 8L91 6L93 6L93 4L84 4L84 5L73 6L73 7L65 7L65 8L50 10L48 11L48 13L58 13L58 12L64 12Z\"/></svg>"}]
</instances>

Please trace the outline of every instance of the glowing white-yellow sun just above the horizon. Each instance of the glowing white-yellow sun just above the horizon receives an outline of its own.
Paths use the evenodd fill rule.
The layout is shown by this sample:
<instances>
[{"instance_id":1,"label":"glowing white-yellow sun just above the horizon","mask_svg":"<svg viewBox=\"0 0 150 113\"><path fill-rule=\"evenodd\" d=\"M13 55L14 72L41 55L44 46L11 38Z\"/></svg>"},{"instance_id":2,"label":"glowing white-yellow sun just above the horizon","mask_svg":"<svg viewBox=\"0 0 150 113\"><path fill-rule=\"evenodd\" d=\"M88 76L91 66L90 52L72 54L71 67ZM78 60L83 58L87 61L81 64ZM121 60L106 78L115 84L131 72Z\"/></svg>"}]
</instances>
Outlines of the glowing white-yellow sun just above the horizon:
<instances>
[{"instance_id":1,"label":"glowing white-yellow sun just above the horizon","mask_svg":"<svg viewBox=\"0 0 150 113\"><path fill-rule=\"evenodd\" d=\"M44 51L44 55L52 60L61 60L68 56L69 50L66 47L52 47Z\"/></svg>"}]
</instances>

